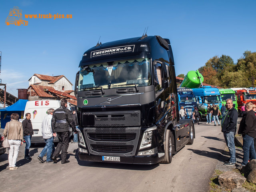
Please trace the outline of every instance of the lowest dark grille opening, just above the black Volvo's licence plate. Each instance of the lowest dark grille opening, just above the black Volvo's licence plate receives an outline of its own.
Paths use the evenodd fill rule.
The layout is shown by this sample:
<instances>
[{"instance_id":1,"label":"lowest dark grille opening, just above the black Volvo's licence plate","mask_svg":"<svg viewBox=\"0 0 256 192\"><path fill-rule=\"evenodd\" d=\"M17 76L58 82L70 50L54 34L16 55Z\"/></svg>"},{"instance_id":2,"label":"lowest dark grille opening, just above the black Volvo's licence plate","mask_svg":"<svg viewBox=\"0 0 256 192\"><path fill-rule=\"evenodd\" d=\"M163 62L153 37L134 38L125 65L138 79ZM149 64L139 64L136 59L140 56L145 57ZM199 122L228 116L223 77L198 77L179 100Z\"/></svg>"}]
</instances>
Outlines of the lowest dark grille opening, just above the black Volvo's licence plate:
<instances>
[{"instance_id":1,"label":"lowest dark grille opening, just above the black Volvo's licence plate","mask_svg":"<svg viewBox=\"0 0 256 192\"><path fill-rule=\"evenodd\" d=\"M133 146L118 146L118 145L91 145L92 150L104 153L128 153L131 152Z\"/></svg>"}]
</instances>

